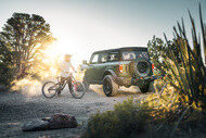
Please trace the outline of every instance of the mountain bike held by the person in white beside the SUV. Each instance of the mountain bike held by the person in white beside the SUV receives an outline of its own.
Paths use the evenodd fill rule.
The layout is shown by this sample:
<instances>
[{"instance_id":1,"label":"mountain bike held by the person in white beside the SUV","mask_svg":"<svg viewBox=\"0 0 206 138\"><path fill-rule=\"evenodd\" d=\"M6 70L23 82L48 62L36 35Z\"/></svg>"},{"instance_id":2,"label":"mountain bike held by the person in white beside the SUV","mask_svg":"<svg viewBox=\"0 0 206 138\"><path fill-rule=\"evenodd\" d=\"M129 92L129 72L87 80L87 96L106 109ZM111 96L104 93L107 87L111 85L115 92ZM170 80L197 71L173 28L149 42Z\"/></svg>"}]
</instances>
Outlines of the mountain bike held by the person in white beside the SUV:
<instances>
[{"instance_id":1,"label":"mountain bike held by the person in white beside the SUV","mask_svg":"<svg viewBox=\"0 0 206 138\"><path fill-rule=\"evenodd\" d=\"M68 77L56 77L57 78L57 83L54 81L46 81L42 86L42 95L46 98L53 98L57 92L61 92L66 84L68 84L68 81L72 81L72 86L69 88L68 85L68 89L72 93L72 96L74 98L80 99L83 97L86 89L85 89L85 85L80 81L77 81L75 79L75 77L73 76L73 74L70 74Z\"/></svg>"}]
</instances>

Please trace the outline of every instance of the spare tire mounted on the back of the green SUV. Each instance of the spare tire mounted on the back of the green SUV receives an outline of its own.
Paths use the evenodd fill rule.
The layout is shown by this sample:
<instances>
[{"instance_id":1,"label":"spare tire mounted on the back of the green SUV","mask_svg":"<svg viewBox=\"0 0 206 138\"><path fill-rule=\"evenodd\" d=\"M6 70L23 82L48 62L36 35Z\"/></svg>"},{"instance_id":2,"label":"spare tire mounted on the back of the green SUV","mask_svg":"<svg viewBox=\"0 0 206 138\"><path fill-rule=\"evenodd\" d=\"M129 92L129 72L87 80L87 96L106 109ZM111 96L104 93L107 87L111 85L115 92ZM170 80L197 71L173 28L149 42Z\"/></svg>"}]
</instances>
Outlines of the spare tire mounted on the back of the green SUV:
<instances>
[{"instance_id":1,"label":"spare tire mounted on the back of the green SUV","mask_svg":"<svg viewBox=\"0 0 206 138\"><path fill-rule=\"evenodd\" d=\"M140 77L145 77L151 74L152 63L145 58L138 58L134 61L134 73Z\"/></svg>"}]
</instances>

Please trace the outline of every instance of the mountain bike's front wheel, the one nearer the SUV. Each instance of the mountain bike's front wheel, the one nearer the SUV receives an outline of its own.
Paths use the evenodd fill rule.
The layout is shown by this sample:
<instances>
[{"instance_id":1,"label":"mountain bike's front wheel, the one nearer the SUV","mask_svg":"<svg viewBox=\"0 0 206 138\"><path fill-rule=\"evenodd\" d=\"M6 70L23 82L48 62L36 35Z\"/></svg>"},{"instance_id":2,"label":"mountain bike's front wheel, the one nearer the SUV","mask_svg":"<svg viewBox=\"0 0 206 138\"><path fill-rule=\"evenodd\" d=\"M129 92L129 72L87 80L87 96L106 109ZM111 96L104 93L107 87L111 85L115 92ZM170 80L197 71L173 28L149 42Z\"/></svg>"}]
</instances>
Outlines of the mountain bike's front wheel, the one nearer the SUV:
<instances>
[{"instance_id":1,"label":"mountain bike's front wheel, the one nearer the SUV","mask_svg":"<svg viewBox=\"0 0 206 138\"><path fill-rule=\"evenodd\" d=\"M72 88L69 89L70 93L74 98L80 99L85 96L86 89L85 85L80 81L76 81L76 84L72 84Z\"/></svg>"}]
</instances>

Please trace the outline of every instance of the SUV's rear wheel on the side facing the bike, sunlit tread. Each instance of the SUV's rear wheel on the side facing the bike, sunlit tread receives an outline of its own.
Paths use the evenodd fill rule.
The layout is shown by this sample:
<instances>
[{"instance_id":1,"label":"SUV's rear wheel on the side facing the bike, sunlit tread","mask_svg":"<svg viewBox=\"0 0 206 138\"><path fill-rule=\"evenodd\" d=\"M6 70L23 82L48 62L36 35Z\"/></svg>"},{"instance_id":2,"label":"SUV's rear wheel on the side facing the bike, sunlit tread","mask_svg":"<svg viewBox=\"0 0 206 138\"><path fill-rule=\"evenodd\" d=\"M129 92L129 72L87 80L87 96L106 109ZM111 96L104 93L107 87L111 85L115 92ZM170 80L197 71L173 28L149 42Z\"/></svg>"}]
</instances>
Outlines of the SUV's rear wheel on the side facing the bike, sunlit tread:
<instances>
[{"instance_id":1,"label":"SUV's rear wheel on the side facing the bike, sunlit tread","mask_svg":"<svg viewBox=\"0 0 206 138\"><path fill-rule=\"evenodd\" d=\"M118 85L113 80L112 75L106 75L103 79L103 90L107 97L113 97L117 95Z\"/></svg>"}]
</instances>

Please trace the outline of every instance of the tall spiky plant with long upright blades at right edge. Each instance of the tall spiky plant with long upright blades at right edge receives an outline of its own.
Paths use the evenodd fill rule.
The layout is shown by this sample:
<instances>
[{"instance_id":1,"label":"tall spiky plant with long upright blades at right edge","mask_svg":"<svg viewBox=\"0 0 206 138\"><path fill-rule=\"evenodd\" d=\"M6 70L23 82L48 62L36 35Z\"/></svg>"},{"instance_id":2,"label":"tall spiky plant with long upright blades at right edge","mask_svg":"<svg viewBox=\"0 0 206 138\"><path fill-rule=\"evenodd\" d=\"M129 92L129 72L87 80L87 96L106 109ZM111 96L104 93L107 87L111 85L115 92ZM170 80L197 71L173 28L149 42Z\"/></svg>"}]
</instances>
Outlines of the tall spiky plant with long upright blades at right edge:
<instances>
[{"instance_id":1,"label":"tall spiky plant with long upright blades at right edge","mask_svg":"<svg viewBox=\"0 0 206 138\"><path fill-rule=\"evenodd\" d=\"M186 37L184 22L178 22L178 27L173 27L173 36L176 39L176 47L179 50L180 61L177 61L172 52L172 46L168 43L167 37L165 39L168 43L168 49L171 51L165 58L164 62L170 68L173 79L168 79L170 84L179 90L179 93L184 102L189 105L206 109L206 25L203 23L202 10L199 4L199 18L202 29L201 36L196 35L194 20L189 11L192 23L192 40L193 47L189 43ZM203 45L203 46L202 46ZM202 57L202 50L204 58ZM204 62L205 60L205 62Z\"/></svg>"}]
</instances>

